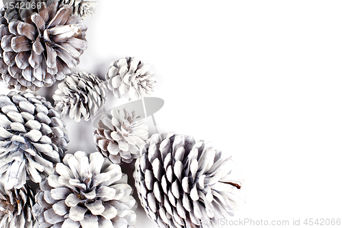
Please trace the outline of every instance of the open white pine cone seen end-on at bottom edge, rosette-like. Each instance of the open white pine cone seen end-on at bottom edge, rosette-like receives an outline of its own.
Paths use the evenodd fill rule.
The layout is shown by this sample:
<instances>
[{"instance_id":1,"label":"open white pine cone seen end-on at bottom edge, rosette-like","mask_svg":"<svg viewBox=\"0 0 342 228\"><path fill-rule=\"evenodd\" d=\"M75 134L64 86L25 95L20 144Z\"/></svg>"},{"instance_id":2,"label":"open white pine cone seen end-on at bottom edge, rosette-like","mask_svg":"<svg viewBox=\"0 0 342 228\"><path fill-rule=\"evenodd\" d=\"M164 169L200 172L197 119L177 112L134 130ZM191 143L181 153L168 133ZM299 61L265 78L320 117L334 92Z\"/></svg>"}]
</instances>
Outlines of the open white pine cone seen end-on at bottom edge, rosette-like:
<instances>
[{"instance_id":1,"label":"open white pine cone seen end-on at bottom edge, rosette-like","mask_svg":"<svg viewBox=\"0 0 342 228\"><path fill-rule=\"evenodd\" d=\"M67 154L40 183L32 213L42 227L133 227L135 199L127 175L101 153ZM109 162L110 163L110 162Z\"/></svg>"}]
</instances>

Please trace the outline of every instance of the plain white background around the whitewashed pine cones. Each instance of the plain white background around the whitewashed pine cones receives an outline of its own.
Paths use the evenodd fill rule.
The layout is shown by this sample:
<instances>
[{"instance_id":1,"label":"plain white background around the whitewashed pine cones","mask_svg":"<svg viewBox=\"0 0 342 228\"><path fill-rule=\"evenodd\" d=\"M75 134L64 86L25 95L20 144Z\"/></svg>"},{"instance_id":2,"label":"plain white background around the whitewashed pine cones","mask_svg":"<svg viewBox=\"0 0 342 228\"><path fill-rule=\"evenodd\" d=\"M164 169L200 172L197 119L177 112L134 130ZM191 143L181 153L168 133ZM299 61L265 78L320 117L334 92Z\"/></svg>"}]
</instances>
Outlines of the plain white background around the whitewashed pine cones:
<instances>
[{"instance_id":1,"label":"plain white background around the whitewashed pine cones","mask_svg":"<svg viewBox=\"0 0 342 228\"><path fill-rule=\"evenodd\" d=\"M147 60L158 77L153 95L165 101L159 132L212 141L239 164L247 201L233 220L342 218L341 8L100 1L85 21L89 48L77 71L104 79L114 60ZM70 132L89 128L83 138L92 140L91 123L67 123ZM71 150L92 150L75 137ZM157 227L138 215L137 227Z\"/></svg>"}]
</instances>

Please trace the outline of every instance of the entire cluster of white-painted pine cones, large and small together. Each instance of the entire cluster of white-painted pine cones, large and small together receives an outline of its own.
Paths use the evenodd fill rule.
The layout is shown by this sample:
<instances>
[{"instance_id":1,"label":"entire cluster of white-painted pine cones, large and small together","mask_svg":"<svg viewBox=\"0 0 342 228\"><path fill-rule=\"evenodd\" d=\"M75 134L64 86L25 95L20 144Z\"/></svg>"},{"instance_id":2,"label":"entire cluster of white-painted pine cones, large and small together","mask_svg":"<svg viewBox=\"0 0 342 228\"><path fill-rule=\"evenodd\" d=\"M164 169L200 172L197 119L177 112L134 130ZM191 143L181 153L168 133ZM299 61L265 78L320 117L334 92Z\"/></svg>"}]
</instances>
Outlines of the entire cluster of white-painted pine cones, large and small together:
<instances>
[{"instance_id":1,"label":"entire cluster of white-painted pine cones, large and small together","mask_svg":"<svg viewBox=\"0 0 342 228\"><path fill-rule=\"evenodd\" d=\"M129 101L152 94L156 75L137 58L109 66L105 81L71 73L88 47L83 19L95 0L14 0L0 10L0 228L134 227L137 203L120 164L135 162L135 188L159 227L209 227L232 216L244 179L230 156L192 136L154 134L134 110L102 114L97 152L68 150L64 116L101 113L108 89ZM18 4L17 4L18 3ZM69 75L68 75L69 74ZM60 80L51 105L36 93ZM35 189L34 183L39 188Z\"/></svg>"}]
</instances>

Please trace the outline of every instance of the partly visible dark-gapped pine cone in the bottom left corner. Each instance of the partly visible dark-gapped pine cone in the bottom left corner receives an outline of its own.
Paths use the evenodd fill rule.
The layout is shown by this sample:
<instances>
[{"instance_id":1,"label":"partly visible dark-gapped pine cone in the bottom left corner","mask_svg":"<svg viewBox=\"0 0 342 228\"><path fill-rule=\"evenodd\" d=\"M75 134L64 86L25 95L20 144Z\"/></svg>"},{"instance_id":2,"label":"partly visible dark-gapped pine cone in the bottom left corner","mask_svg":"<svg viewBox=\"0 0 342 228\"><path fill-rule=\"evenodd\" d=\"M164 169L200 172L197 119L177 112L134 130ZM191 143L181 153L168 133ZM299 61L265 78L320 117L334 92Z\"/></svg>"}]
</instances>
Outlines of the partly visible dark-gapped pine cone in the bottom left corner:
<instances>
[{"instance_id":1,"label":"partly visible dark-gapped pine cone in the bottom left corner","mask_svg":"<svg viewBox=\"0 0 342 228\"><path fill-rule=\"evenodd\" d=\"M7 190L3 179L0 181L0 227L32 228L34 218L31 208L34 205L33 192L29 186Z\"/></svg>"}]
</instances>

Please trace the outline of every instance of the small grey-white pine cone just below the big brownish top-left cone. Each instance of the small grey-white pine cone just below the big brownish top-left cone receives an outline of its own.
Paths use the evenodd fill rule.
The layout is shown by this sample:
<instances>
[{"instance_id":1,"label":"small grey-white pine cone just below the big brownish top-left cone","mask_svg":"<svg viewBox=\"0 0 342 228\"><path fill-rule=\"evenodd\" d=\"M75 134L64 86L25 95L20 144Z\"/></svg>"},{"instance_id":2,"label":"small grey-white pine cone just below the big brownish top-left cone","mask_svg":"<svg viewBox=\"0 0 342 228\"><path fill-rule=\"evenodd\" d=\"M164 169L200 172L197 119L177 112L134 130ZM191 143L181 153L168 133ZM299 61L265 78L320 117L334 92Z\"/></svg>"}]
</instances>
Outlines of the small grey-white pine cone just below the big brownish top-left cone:
<instances>
[{"instance_id":1,"label":"small grey-white pine cone just below the big brownish top-left cone","mask_svg":"<svg viewBox=\"0 0 342 228\"><path fill-rule=\"evenodd\" d=\"M69 115L79 123L83 117L88 121L101 110L105 104L107 86L95 75L81 72L67 75L58 85L53 95L56 110L62 111L62 116Z\"/></svg>"}]
</instances>

